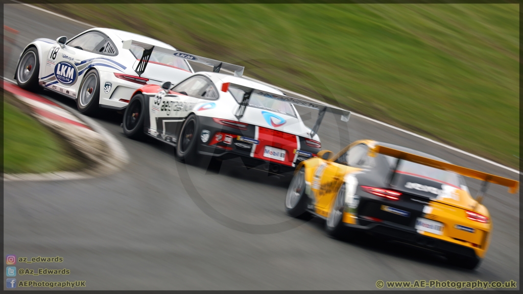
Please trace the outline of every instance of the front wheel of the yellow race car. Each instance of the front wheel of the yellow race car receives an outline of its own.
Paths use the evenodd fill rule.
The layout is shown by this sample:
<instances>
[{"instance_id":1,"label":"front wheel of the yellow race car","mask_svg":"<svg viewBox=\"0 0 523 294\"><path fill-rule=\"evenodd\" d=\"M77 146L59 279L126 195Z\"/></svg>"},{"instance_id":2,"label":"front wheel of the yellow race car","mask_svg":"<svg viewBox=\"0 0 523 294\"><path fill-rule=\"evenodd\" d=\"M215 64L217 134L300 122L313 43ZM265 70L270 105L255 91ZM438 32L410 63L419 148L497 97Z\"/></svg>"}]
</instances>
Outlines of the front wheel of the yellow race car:
<instances>
[{"instance_id":1,"label":"front wheel of the yellow race car","mask_svg":"<svg viewBox=\"0 0 523 294\"><path fill-rule=\"evenodd\" d=\"M305 218L308 216L308 195L305 193L305 167L294 174L285 196L285 212L293 218Z\"/></svg>"}]
</instances>

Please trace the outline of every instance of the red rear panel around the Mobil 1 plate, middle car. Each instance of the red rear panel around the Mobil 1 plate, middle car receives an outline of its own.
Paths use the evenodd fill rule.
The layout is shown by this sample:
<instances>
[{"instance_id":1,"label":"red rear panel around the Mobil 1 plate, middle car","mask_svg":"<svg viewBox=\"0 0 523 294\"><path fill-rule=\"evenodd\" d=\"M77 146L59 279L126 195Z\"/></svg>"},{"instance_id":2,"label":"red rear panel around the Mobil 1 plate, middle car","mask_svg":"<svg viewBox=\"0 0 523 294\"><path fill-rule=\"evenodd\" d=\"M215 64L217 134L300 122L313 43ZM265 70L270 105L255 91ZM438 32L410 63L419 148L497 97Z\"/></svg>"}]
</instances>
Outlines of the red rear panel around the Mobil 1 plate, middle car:
<instances>
[{"instance_id":1,"label":"red rear panel around the Mobil 1 plate, middle car","mask_svg":"<svg viewBox=\"0 0 523 294\"><path fill-rule=\"evenodd\" d=\"M294 149L298 149L296 135L259 127L258 140L259 144L256 146L256 151L253 156L254 158L292 166L292 161L294 160ZM279 161L263 156L265 146L285 150L285 161Z\"/></svg>"}]
</instances>

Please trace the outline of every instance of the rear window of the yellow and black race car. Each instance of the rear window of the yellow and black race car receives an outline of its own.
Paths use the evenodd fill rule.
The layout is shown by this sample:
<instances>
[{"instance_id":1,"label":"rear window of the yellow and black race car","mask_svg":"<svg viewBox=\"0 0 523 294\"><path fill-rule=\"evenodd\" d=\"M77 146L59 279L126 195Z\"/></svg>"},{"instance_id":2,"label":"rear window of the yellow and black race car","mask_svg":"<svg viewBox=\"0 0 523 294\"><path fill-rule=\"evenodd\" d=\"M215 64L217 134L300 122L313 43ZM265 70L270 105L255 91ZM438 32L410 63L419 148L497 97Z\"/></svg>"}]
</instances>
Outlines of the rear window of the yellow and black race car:
<instances>
[{"instance_id":1,"label":"rear window of the yellow and black race car","mask_svg":"<svg viewBox=\"0 0 523 294\"><path fill-rule=\"evenodd\" d=\"M388 155L383 155L386 160L389 162L391 168L396 164L397 159ZM402 161L398 167L397 173L406 174L411 176L417 176L426 178L429 180L435 180L441 184L446 184L449 186L454 186L460 188L464 182L461 179L461 176L451 172L444 171L442 169L426 166L423 164L418 164L412 161Z\"/></svg>"}]
</instances>

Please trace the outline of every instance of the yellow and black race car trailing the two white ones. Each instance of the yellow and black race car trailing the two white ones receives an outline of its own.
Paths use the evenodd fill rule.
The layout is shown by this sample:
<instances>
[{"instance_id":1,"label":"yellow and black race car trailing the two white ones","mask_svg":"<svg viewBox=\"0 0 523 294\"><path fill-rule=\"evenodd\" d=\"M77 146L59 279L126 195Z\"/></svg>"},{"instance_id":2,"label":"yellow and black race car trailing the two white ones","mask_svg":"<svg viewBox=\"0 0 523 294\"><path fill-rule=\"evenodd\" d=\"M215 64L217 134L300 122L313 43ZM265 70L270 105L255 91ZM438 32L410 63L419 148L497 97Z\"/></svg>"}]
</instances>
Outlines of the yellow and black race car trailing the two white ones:
<instances>
[{"instance_id":1,"label":"yellow and black race car trailing the two white ones","mask_svg":"<svg viewBox=\"0 0 523 294\"><path fill-rule=\"evenodd\" d=\"M474 199L462 176L483 181ZM350 229L422 247L468 269L490 244L492 220L482 205L487 184L519 182L450 164L388 143L360 140L338 154L320 151L297 166L285 199L292 217L312 213L338 238Z\"/></svg>"}]
</instances>

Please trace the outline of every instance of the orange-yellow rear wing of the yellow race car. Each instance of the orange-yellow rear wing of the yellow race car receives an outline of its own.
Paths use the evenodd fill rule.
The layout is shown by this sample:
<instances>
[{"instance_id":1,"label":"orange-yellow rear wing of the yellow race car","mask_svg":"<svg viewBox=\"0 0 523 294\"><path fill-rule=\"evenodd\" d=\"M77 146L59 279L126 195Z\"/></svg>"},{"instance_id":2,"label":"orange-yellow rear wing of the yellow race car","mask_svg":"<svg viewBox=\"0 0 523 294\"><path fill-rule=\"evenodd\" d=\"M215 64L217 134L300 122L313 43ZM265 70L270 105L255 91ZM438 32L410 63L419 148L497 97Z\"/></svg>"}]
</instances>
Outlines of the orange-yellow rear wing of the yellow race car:
<instances>
[{"instance_id":1,"label":"orange-yellow rear wing of the yellow race car","mask_svg":"<svg viewBox=\"0 0 523 294\"><path fill-rule=\"evenodd\" d=\"M392 157L395 157L400 160L406 160L411 161L423 165L427 165L430 167L443 169L445 171L453 172L456 174L460 174L462 176L471 177L475 179L482 180L484 182L481 193L483 194L486 190L486 183L493 183L497 185L502 185L508 187L509 193L516 193L519 187L519 182L517 180L504 178L492 174L487 174L479 171L475 171L474 169L470 169L463 166L458 166L434 159L429 159L427 157L419 156L416 154L403 152L397 149L388 148L385 146L381 146L379 144L375 145L373 148L370 149L371 154L374 153L380 153L383 155L389 155ZM399 162L398 161L398 162ZM397 166L396 166L397 167Z\"/></svg>"}]
</instances>

